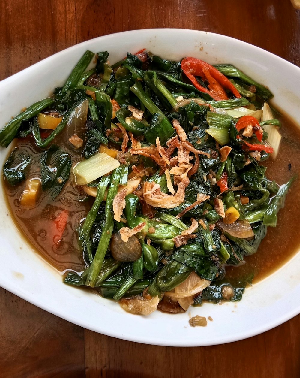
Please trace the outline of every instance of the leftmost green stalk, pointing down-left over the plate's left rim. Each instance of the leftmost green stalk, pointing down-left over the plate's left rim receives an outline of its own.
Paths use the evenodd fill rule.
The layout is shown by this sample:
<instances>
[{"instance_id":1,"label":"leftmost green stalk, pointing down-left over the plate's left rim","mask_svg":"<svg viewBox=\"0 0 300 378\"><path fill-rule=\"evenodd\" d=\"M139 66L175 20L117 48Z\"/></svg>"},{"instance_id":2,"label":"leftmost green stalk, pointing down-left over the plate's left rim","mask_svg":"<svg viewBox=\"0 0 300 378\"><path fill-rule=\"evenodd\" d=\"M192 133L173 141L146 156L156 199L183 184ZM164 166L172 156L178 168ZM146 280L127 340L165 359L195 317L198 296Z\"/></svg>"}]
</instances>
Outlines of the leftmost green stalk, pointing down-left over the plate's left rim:
<instances>
[{"instance_id":1,"label":"leftmost green stalk, pointing down-left over the plate's left rim","mask_svg":"<svg viewBox=\"0 0 300 378\"><path fill-rule=\"evenodd\" d=\"M0 145L7 147L17 135L22 121L28 121L28 119L35 117L41 112L41 110L50 107L53 103L54 100L52 98L45 98L41 101L35 102L29 106L25 112L15 116L3 127L2 130L0 130Z\"/></svg>"}]
</instances>

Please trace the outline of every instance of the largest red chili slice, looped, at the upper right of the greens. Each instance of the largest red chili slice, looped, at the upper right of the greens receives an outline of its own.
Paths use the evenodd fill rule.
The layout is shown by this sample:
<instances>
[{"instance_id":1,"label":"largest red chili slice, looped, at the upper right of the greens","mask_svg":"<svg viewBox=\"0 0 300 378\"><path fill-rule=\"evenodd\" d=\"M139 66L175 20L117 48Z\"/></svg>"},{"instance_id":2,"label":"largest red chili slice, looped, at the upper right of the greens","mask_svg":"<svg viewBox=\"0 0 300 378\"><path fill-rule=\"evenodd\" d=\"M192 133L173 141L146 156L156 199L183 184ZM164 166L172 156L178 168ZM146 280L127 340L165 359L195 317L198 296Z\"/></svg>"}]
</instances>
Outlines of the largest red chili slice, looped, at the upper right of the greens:
<instances>
[{"instance_id":1,"label":"largest red chili slice, looped, at the upper right of the greens","mask_svg":"<svg viewBox=\"0 0 300 378\"><path fill-rule=\"evenodd\" d=\"M181 61L181 68L184 74L190 79L194 87L203 93L209 94L213 99L228 100L226 91L224 88L231 91L235 97L241 98L240 93L237 91L235 86L223 75L219 70L217 70L212 65L204 62L203 60L186 57ZM208 81L209 90L202 87L195 76L201 76L203 80Z\"/></svg>"}]
</instances>

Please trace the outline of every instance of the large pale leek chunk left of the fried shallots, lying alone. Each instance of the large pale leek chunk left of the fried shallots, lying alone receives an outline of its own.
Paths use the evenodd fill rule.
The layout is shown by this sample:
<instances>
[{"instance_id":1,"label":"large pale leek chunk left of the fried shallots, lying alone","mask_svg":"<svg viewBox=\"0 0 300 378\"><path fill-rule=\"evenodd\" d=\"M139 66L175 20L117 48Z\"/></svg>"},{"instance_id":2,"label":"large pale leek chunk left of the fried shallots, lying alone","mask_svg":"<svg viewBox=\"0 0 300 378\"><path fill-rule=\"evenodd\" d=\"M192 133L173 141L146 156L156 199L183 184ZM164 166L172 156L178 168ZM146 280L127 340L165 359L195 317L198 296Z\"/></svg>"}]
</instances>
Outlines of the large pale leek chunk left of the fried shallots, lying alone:
<instances>
[{"instance_id":1,"label":"large pale leek chunk left of the fried shallots, lying alone","mask_svg":"<svg viewBox=\"0 0 300 378\"><path fill-rule=\"evenodd\" d=\"M118 168L120 165L118 160L108 156L106 153L98 152L89 159L80 161L73 168L76 184L89 184Z\"/></svg>"}]
</instances>

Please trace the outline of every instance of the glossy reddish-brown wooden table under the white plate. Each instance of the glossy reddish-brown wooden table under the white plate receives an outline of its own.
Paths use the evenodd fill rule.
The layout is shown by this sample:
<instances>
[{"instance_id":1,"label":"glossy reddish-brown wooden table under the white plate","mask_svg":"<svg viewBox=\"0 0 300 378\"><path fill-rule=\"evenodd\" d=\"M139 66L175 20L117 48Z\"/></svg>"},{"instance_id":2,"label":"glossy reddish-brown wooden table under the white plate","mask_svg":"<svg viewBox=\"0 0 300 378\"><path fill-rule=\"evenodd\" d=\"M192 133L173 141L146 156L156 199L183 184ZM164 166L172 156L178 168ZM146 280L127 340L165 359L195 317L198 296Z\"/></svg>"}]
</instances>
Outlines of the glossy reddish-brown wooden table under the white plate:
<instances>
[{"instance_id":1,"label":"glossy reddish-brown wooden table under the white plate","mask_svg":"<svg viewBox=\"0 0 300 378\"><path fill-rule=\"evenodd\" d=\"M300 66L300 10L288 0L3 0L0 17L0 79L76 43L140 28L225 34ZM0 306L0 377L300 376L300 315L244 341L171 348L84 330L3 289Z\"/></svg>"}]
</instances>

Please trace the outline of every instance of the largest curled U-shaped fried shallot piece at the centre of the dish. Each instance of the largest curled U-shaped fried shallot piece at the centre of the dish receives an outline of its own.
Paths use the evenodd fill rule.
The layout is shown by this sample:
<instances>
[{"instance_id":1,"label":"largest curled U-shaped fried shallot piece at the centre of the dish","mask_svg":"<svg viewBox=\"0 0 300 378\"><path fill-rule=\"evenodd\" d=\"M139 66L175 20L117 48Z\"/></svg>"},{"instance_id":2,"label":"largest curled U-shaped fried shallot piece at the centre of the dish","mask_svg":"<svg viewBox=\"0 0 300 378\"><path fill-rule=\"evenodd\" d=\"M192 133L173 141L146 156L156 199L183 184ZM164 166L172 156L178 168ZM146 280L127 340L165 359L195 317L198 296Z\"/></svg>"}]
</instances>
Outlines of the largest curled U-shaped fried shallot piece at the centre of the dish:
<instances>
[{"instance_id":1,"label":"largest curled U-shaped fried shallot piece at the centre of the dish","mask_svg":"<svg viewBox=\"0 0 300 378\"><path fill-rule=\"evenodd\" d=\"M173 209L184 201L185 189L190 180L184 177L178 184L175 195L165 194L161 191L161 186L155 182L146 181L143 188L143 197L148 205L163 209Z\"/></svg>"}]
</instances>

